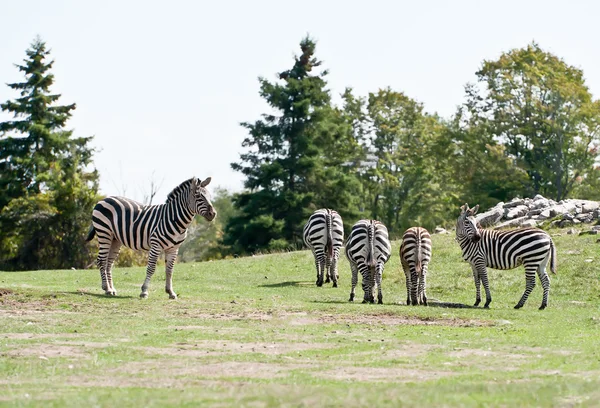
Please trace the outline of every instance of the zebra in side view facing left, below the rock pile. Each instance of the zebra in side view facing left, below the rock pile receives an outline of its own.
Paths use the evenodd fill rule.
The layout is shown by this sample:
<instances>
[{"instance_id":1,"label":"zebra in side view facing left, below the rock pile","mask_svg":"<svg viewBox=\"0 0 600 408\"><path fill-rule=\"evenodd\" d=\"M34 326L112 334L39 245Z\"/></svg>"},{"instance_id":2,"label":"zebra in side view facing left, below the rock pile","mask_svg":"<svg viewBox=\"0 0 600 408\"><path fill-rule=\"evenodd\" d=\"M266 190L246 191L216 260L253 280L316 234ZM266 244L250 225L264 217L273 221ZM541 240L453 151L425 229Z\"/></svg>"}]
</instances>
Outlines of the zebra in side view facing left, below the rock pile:
<instances>
[{"instance_id":1,"label":"zebra in side view facing left, below the rock pile","mask_svg":"<svg viewBox=\"0 0 600 408\"><path fill-rule=\"evenodd\" d=\"M468 204L460 207L461 213L456 222L456 239L462 249L463 259L471 264L475 279L475 306L481 302L480 284L485 289L485 306L492 301L487 277L487 269L514 269L520 265L525 267L525 292L515 306L523 307L529 294L535 287L535 274L540 278L544 289L540 310L548 306L550 278L546 265L550 261L550 270L556 273L556 247L552 238L538 228L525 228L512 231L490 231L478 228L475 213L479 205L469 208Z\"/></svg>"}]
</instances>

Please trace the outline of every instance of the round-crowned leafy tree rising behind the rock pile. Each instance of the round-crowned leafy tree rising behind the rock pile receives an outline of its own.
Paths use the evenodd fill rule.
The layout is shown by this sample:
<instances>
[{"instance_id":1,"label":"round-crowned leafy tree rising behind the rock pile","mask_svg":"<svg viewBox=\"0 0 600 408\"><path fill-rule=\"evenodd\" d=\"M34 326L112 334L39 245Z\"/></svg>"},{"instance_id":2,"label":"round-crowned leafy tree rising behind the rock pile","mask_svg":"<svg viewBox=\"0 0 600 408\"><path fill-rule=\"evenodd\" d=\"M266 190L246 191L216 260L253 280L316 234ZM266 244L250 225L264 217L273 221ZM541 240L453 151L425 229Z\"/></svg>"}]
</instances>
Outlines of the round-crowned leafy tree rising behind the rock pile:
<instances>
[{"instance_id":1,"label":"round-crowned leafy tree rising behind the rock pile","mask_svg":"<svg viewBox=\"0 0 600 408\"><path fill-rule=\"evenodd\" d=\"M500 141L529 175L528 189L561 200L592 169L600 102L583 72L532 43L484 61L467 87L473 125Z\"/></svg>"}]
</instances>

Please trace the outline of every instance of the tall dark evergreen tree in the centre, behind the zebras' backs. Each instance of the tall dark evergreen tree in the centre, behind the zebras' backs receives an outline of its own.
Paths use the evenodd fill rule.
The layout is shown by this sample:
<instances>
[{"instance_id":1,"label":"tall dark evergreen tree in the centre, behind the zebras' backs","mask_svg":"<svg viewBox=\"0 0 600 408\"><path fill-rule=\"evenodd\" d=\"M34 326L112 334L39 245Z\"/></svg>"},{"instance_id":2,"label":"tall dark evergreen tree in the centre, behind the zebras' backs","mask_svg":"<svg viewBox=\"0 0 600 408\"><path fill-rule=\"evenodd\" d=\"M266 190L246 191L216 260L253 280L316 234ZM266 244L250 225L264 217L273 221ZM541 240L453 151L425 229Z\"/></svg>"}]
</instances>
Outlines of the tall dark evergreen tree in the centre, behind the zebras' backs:
<instances>
[{"instance_id":1,"label":"tall dark evergreen tree in the centre, behind the zebras' backs","mask_svg":"<svg viewBox=\"0 0 600 408\"><path fill-rule=\"evenodd\" d=\"M285 249L302 245L302 227L316 208L328 206L342 216L356 212L359 188L344 172L340 150L351 137L343 114L331 106L327 71L317 72L315 42L306 37L293 67L279 82L260 78L260 95L274 113L242 123L249 150L234 170L246 176L247 191L235 198L240 210L226 228L224 243L235 252Z\"/></svg>"}]
</instances>

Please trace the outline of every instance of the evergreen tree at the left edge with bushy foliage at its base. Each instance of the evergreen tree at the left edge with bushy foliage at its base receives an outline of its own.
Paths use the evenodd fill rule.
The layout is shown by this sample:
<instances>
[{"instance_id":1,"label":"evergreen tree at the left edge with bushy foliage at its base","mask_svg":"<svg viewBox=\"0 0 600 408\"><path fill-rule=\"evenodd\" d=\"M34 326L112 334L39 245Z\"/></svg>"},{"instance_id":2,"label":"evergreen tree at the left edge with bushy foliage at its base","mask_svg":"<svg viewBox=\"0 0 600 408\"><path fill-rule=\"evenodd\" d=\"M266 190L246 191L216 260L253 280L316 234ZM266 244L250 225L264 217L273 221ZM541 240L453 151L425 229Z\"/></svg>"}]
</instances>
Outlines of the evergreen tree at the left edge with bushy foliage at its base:
<instances>
[{"instance_id":1,"label":"evergreen tree at the left edge with bushy foliage at its base","mask_svg":"<svg viewBox=\"0 0 600 408\"><path fill-rule=\"evenodd\" d=\"M3 268L84 267L82 244L97 201L95 171L88 171L91 137L65 130L75 104L56 105L53 61L36 39L27 50L26 82L9 84L20 97L0 106L13 119L0 123L0 264Z\"/></svg>"}]
</instances>

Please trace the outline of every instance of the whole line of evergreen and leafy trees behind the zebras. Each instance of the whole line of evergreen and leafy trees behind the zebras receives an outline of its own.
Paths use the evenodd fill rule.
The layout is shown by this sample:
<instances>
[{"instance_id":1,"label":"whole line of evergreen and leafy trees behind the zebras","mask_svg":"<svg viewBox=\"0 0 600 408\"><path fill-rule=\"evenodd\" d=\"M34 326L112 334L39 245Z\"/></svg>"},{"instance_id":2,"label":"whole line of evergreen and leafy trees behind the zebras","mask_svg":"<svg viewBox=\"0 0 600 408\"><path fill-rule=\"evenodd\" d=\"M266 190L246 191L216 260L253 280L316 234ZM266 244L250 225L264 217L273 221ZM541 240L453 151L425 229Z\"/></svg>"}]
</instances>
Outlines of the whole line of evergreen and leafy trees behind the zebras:
<instances>
[{"instance_id":1,"label":"whole line of evergreen and leafy trees behind the zebras","mask_svg":"<svg viewBox=\"0 0 600 408\"><path fill-rule=\"evenodd\" d=\"M91 137L66 130L75 104L50 93L52 61L36 39L8 84L20 97L0 105L0 267L83 267L98 194ZM278 80L259 78L269 113L241 123L244 152L231 166L244 190L217 190L219 217L190 228L184 261L302 247L316 209L338 211L346 226L382 221L392 237L415 225L451 225L464 202L490 207L542 194L600 199L600 101L583 71L538 44L483 61L450 118L391 88L334 104L327 69L310 37ZM143 257L122 256L124 264Z\"/></svg>"}]
</instances>

